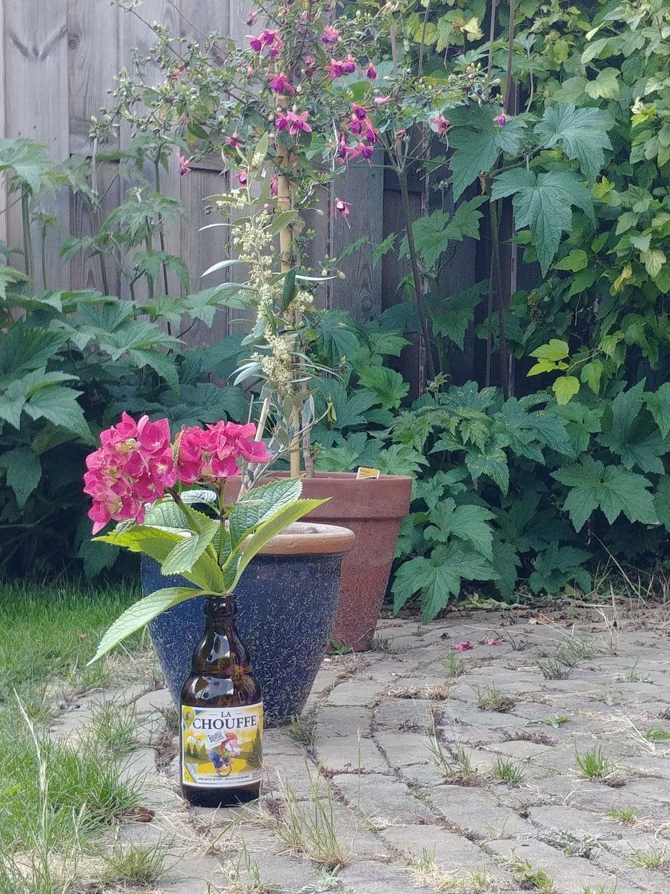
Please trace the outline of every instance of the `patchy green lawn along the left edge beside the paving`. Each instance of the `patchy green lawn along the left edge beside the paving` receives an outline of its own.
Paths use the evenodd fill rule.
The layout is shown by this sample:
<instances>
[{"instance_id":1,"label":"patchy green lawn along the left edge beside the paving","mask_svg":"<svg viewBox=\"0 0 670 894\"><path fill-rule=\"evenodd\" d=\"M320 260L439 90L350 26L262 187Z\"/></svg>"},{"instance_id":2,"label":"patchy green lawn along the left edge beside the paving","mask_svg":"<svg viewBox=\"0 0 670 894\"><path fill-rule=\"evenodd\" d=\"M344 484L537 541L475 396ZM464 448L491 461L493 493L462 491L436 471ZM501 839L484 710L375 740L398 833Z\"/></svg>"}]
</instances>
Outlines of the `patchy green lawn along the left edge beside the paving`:
<instances>
[{"instance_id":1,"label":"patchy green lawn along the left edge beside the paving","mask_svg":"<svg viewBox=\"0 0 670 894\"><path fill-rule=\"evenodd\" d=\"M140 803L138 778L121 772L135 746L130 713L109 702L76 741L46 734L59 693L105 687L115 671L132 681L148 674L139 636L121 661L86 668L103 630L135 598L121 586L0 584L0 894L80 890L96 836Z\"/></svg>"}]
</instances>

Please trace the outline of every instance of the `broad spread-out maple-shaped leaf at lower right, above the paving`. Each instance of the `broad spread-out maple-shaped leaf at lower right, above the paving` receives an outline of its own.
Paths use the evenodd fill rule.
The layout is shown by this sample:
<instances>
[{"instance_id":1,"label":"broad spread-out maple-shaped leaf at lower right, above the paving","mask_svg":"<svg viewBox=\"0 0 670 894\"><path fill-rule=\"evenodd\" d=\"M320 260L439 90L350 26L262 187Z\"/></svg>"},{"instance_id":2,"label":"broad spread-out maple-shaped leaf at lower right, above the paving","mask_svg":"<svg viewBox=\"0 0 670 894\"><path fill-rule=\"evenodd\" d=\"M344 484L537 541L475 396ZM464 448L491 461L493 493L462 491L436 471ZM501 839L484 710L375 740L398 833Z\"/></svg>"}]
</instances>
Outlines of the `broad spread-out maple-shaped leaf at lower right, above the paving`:
<instances>
[{"instance_id":1,"label":"broad spread-out maple-shaped leaf at lower right, above the paving","mask_svg":"<svg viewBox=\"0 0 670 894\"><path fill-rule=\"evenodd\" d=\"M575 530L597 509L605 513L611 525L623 512L629 521L658 524L648 478L626 471L622 466L607 466L590 456L551 473L570 488L563 508L570 514Z\"/></svg>"}]
</instances>

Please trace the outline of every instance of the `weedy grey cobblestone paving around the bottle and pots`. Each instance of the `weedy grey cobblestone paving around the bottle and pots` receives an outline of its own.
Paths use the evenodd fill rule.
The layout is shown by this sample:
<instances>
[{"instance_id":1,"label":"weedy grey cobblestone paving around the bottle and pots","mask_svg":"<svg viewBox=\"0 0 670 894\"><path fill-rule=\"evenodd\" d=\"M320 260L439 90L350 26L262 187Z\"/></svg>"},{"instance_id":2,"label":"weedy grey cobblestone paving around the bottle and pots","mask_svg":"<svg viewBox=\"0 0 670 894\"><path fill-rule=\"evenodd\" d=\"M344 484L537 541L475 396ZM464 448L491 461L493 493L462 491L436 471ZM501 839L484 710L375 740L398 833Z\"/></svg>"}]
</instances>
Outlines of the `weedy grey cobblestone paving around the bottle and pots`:
<instances>
[{"instance_id":1,"label":"weedy grey cobblestone paving around the bottle and pots","mask_svg":"<svg viewBox=\"0 0 670 894\"><path fill-rule=\"evenodd\" d=\"M381 620L374 651L323 662L293 738L266 731L263 805L245 812L180 799L165 689L105 694L134 705L145 743L127 772L145 774L150 822L123 834L170 845L142 891L666 894L670 653L666 616L641 617ZM589 754L602 778L584 778Z\"/></svg>"}]
</instances>

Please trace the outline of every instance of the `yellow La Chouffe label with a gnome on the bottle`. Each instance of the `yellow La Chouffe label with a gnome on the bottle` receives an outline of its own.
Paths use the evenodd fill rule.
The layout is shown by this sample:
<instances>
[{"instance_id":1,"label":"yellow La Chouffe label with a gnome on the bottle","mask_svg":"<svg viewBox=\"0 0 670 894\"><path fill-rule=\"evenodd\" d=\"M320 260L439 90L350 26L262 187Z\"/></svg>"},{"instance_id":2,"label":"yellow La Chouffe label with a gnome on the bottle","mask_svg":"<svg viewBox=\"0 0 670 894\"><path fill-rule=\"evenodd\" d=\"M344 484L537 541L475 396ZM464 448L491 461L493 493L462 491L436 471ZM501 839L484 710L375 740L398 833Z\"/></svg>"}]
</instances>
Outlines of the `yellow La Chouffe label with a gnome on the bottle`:
<instances>
[{"instance_id":1,"label":"yellow La Chouffe label with a gnome on the bottle","mask_svg":"<svg viewBox=\"0 0 670 894\"><path fill-rule=\"evenodd\" d=\"M263 777L263 703L231 708L181 705L181 781L225 789Z\"/></svg>"}]
</instances>

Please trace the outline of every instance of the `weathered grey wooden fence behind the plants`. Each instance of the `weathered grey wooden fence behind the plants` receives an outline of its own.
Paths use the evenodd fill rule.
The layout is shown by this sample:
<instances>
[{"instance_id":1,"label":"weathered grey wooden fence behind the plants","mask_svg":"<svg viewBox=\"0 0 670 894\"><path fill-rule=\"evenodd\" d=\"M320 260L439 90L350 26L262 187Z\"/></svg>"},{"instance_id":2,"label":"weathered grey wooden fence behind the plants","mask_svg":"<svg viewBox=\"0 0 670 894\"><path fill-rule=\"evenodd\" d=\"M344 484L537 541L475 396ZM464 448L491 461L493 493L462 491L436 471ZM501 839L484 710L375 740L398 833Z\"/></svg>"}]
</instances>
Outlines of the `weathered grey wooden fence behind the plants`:
<instances>
[{"instance_id":1,"label":"weathered grey wooden fence behind the plants","mask_svg":"<svg viewBox=\"0 0 670 894\"><path fill-rule=\"evenodd\" d=\"M145 20L160 21L182 36L201 38L211 30L221 30L244 39L248 31L247 4L243 0L144 0L138 12ZM37 139L55 161L73 155L90 156L91 116L108 104L106 91L112 86L113 75L130 64L130 48L147 51L153 32L136 15L110 5L109 0L0 0L0 25L0 132L12 138ZM121 129L121 146L127 136ZM103 169L101 177L105 188L109 186L104 209L109 211L121 201L125 187L115 176L113 165ZM225 257L220 230L198 232L207 223L203 198L225 189L225 181L226 174L215 164L200 164L188 177L180 178L176 159L163 181L163 192L180 198L189 214L188 221L167 233L167 248L183 257L196 282L207 266ZM352 203L351 228L333 218L332 207L324 207L325 214L313 221L316 255L337 257L352 240L363 235L375 243L390 232L404 229L397 184L381 166L352 167L339 182L338 194ZM432 210L437 195L427 193L423 181L417 180L411 195L415 215ZM6 201L0 204L7 205ZM58 223L58 232L50 232L46 244L50 286L99 289L95 260L75 258L67 266L58 257L58 246L65 236L90 232L91 222L84 207L76 196L61 193L47 203L47 210ZM21 244L18 206L0 215L0 239L10 246ZM445 283L448 293L482 278L482 258L475 257L474 246L470 241L458 247L449 264ZM365 321L399 300L398 282L407 271L395 255L387 255L375 267L371 251L362 249L343 267L347 279L331 283L324 299L327 307L347 309L356 319ZM111 288L114 285L119 283ZM178 290L180 286L175 282L173 288ZM212 342L227 328L222 313L212 330L199 327L191 335L196 343ZM420 354L415 346L406 351L401 362L415 392L420 387ZM473 362L473 350L466 350L463 368L456 375L459 380L472 375Z\"/></svg>"}]
</instances>

